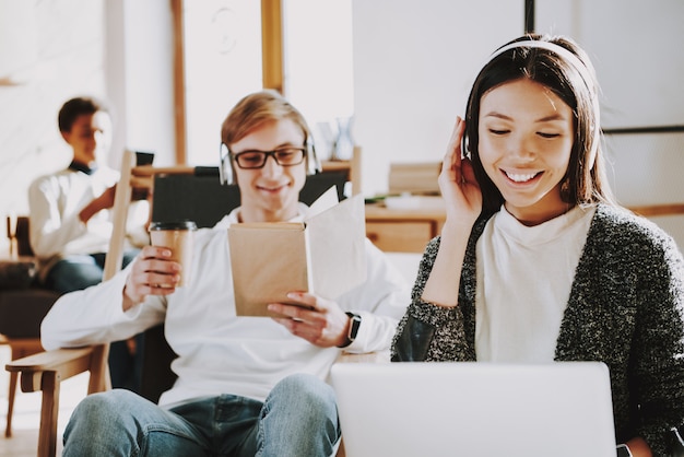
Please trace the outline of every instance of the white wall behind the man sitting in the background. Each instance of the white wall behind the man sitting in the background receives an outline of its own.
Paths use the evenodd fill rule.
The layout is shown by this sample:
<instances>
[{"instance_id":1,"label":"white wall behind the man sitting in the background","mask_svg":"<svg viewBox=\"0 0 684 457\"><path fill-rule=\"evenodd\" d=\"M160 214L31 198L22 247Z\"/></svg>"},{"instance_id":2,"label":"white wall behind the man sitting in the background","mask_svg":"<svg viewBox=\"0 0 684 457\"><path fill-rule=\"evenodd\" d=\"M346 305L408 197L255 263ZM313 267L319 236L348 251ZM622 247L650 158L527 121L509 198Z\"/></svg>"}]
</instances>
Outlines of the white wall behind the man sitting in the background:
<instances>
[{"instance_id":1,"label":"white wall behind the man sitting in the background","mask_svg":"<svg viewBox=\"0 0 684 457\"><path fill-rule=\"evenodd\" d=\"M155 163L173 163L169 1L21 1L17 9L19 2L0 1L0 22L20 23L15 37L8 38L3 27L0 56L13 50L16 42L26 45L19 47L22 52L32 55L21 61L9 59L22 68L0 65L2 221L7 214L28 213L33 179L69 164L72 153L59 134L57 114L73 96L95 95L110 102L115 138L108 162L113 166L119 166L123 148L156 151ZM8 82L16 74L16 81ZM8 247L3 234L0 256L7 255Z\"/></svg>"}]
</instances>

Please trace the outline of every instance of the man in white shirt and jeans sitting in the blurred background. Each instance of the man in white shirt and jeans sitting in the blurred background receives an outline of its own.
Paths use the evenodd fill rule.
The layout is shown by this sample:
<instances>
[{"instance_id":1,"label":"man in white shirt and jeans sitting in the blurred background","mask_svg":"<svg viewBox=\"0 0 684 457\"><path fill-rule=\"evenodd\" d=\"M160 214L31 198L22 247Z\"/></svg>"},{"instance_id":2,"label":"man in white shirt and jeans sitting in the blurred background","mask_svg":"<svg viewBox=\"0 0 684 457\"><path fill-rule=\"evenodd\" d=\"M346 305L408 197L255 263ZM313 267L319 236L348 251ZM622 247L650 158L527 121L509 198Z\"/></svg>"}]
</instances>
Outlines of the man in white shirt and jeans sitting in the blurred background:
<instances>
[{"instance_id":1,"label":"man in white shirt and jeans sitting in the blurred background","mask_svg":"<svg viewBox=\"0 0 684 457\"><path fill-rule=\"evenodd\" d=\"M39 278L48 289L63 294L102 281L119 173L105 164L111 118L102 102L91 97L68 101L59 112L58 125L73 159L68 168L32 183L28 204L31 246L38 258ZM148 244L148 211L146 202L134 203L123 265L139 253L134 246ZM131 343L113 344L109 365L114 386L135 390L140 367Z\"/></svg>"}]
</instances>

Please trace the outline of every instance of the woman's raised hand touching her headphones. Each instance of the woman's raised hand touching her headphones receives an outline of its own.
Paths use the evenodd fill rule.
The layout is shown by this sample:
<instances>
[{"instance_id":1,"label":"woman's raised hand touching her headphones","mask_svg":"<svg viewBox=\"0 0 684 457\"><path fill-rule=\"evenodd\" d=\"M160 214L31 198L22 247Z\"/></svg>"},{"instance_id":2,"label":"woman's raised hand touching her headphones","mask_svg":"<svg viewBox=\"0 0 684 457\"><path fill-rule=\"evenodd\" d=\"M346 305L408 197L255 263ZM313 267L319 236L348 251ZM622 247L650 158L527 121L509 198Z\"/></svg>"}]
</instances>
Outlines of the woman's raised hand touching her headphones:
<instances>
[{"instance_id":1,"label":"woman's raised hand touching her headphones","mask_svg":"<svg viewBox=\"0 0 684 457\"><path fill-rule=\"evenodd\" d=\"M467 225L470 232L482 211L482 191L470 160L461 157L464 131L465 121L457 117L438 183L446 203L447 223Z\"/></svg>"}]
</instances>

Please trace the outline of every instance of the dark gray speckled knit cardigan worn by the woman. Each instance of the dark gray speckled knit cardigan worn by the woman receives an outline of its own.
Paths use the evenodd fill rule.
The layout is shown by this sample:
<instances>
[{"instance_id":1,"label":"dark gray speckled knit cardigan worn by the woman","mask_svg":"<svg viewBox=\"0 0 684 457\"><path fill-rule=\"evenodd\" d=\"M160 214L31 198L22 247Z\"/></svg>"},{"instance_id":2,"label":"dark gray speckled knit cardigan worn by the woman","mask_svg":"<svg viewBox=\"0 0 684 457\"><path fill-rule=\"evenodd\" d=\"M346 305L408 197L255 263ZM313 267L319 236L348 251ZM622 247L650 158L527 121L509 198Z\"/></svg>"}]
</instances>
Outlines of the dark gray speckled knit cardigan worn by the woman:
<instances>
[{"instance_id":1,"label":"dark gray speckled knit cardigan worn by the woman","mask_svg":"<svg viewBox=\"0 0 684 457\"><path fill-rule=\"evenodd\" d=\"M475 244L472 231L459 306L421 300L439 248L427 245L398 325L392 361L474 361ZM598 204L556 342L556 361L602 361L611 373L617 443L641 436L654 456L670 454L670 429L684 424L684 260L650 221Z\"/></svg>"}]
</instances>

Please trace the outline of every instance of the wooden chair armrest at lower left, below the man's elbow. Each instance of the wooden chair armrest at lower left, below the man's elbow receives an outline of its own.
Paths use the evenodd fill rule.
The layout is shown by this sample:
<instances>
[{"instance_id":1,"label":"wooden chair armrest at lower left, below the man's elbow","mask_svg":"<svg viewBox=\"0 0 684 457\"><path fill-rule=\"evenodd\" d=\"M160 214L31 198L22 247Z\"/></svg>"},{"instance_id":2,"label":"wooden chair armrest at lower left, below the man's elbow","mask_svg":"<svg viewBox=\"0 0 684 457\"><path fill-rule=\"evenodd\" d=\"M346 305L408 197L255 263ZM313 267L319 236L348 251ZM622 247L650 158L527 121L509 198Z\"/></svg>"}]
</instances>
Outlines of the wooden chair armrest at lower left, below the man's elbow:
<instances>
[{"instance_id":1,"label":"wooden chair armrest at lower left, below the man's elbow","mask_svg":"<svg viewBox=\"0 0 684 457\"><path fill-rule=\"evenodd\" d=\"M105 355L105 351L106 348L102 345L57 349L14 360L4 367L8 372L21 373L22 391L38 391L42 390L44 373L55 372L58 379L68 379L97 366L95 362ZM89 394L107 387L102 374L91 373Z\"/></svg>"}]
</instances>

